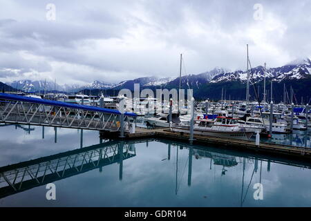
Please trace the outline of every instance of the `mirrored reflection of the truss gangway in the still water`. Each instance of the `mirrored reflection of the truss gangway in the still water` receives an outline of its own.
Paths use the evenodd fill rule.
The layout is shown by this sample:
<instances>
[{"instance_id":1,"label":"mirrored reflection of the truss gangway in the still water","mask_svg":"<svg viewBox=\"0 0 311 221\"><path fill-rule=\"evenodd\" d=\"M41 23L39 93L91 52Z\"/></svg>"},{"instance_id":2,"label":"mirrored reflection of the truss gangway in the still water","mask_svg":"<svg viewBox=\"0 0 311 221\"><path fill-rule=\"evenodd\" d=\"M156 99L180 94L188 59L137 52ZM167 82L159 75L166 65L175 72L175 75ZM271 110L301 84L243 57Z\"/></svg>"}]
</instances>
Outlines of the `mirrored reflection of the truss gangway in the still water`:
<instances>
[{"instance_id":1,"label":"mirrored reflection of the truss gangway in the still water","mask_svg":"<svg viewBox=\"0 0 311 221\"><path fill-rule=\"evenodd\" d=\"M104 142L0 168L0 198L135 157L135 142Z\"/></svg>"}]
</instances>

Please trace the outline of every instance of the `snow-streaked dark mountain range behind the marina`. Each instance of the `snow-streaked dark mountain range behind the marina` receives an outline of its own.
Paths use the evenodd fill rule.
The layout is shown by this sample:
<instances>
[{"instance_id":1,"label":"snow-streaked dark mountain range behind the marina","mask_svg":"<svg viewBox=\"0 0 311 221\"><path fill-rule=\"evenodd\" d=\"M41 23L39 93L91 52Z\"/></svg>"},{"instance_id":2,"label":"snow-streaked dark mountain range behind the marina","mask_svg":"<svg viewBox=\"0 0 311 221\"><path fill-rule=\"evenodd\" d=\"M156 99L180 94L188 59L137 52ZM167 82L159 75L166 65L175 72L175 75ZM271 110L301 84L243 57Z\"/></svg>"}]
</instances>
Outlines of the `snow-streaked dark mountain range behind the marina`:
<instances>
[{"instance_id":1,"label":"snow-streaked dark mountain range behind the marina","mask_svg":"<svg viewBox=\"0 0 311 221\"><path fill-rule=\"evenodd\" d=\"M303 96L310 96L309 88L311 88L311 61L309 58L296 59L288 64L276 68L265 68L263 66L256 66L250 68L249 78L251 85L256 84L259 86L259 90L263 92L263 79L266 77L267 84L273 81L274 84L282 85L288 84L290 86L291 82L296 82L298 88L294 90L300 90L299 82L304 83L308 88L305 88L305 93ZM310 85L308 82L310 81ZM121 81L119 84L111 84L104 81L93 81L88 84L72 84L72 85L59 85L52 81L12 81L7 83L12 88L17 88L19 90L24 90L26 92L37 92L43 90L62 90L66 92L79 92L81 90L89 90L88 93L98 93L100 90L115 91L121 88L128 88L133 90L134 84L140 84L140 88L178 88L181 83L181 87L188 89L194 89L194 93L198 97L209 97L211 99L219 99L221 95L221 90L226 90L227 94L238 95L236 99L244 98L245 96L245 84L247 82L247 72L245 70L235 70L230 71L226 68L216 67L205 73L183 75L181 81L179 77L140 77L137 79L130 79L126 81ZM232 91L231 91L231 89ZM254 86L251 86L253 90ZM240 91L241 90L241 91ZM270 90L268 88L267 90ZM275 89L276 90L276 89ZM240 93L238 93L240 91ZM283 89L281 90L283 93ZM250 92L254 96L254 91ZM309 94L308 94L309 93ZM108 93L109 94L109 93ZM263 93L259 93L263 94ZM310 96L311 97L311 96Z\"/></svg>"}]
</instances>

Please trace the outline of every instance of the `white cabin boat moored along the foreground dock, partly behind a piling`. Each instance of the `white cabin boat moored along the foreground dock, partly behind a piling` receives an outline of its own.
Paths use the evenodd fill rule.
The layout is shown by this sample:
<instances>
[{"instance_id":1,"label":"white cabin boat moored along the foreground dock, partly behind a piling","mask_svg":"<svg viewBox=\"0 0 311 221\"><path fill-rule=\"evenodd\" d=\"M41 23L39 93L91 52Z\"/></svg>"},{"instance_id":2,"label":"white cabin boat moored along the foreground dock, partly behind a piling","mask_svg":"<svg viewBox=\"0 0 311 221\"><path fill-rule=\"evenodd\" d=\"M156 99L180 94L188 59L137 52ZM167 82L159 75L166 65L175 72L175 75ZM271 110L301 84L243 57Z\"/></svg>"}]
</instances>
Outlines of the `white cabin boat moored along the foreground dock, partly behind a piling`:
<instances>
[{"instance_id":1,"label":"white cabin boat moored along the foreground dock, partly behind a piling","mask_svg":"<svg viewBox=\"0 0 311 221\"><path fill-rule=\"evenodd\" d=\"M238 124L238 118L217 117L215 120L200 119L194 124L194 134L213 137L225 137L241 140L249 140L254 131L245 131ZM190 126L173 126L171 131L189 133Z\"/></svg>"}]
</instances>

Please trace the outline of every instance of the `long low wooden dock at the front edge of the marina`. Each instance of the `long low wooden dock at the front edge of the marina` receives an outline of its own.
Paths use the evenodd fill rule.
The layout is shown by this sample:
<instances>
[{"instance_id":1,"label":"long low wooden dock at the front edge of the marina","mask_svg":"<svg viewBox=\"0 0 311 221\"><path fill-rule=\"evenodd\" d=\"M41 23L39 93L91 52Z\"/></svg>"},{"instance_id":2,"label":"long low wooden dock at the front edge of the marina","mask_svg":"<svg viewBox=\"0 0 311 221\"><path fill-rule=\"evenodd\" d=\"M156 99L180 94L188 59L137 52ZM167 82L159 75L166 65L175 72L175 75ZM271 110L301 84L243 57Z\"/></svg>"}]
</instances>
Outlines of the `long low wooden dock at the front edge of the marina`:
<instances>
[{"instance_id":1,"label":"long low wooden dock at the front edge of the marina","mask_svg":"<svg viewBox=\"0 0 311 221\"><path fill-rule=\"evenodd\" d=\"M136 128L136 133L126 133L126 139L141 138L160 138L165 140L179 140L189 143L189 133L172 132L169 128ZM300 160L308 160L311 162L311 148L272 144L261 142L259 146L252 140L238 140L232 138L212 137L206 135L194 134L194 144L209 144L210 146L220 146L222 148L235 148L241 151L252 151L257 153L265 153L276 155L279 157L299 158Z\"/></svg>"}]
</instances>

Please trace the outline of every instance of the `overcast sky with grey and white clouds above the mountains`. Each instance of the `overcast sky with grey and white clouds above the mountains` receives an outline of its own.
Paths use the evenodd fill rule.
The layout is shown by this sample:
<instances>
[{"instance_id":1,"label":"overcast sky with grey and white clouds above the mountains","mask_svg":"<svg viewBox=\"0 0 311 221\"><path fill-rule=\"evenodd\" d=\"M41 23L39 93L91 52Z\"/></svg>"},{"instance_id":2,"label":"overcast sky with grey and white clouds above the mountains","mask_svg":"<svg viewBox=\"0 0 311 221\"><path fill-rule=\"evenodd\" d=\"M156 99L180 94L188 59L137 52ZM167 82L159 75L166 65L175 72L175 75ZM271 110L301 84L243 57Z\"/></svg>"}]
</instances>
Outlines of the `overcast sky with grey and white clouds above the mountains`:
<instances>
[{"instance_id":1,"label":"overcast sky with grey and white clouds above the mountains","mask_svg":"<svg viewBox=\"0 0 311 221\"><path fill-rule=\"evenodd\" d=\"M53 7L48 5L53 3ZM117 83L311 57L311 1L0 0L0 81Z\"/></svg>"}]
</instances>

